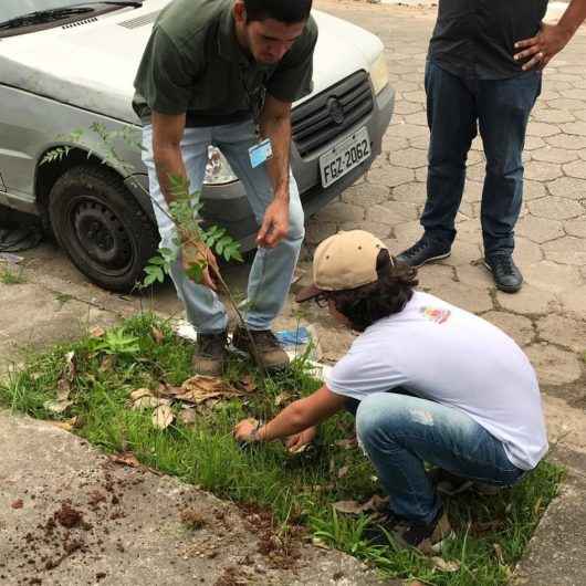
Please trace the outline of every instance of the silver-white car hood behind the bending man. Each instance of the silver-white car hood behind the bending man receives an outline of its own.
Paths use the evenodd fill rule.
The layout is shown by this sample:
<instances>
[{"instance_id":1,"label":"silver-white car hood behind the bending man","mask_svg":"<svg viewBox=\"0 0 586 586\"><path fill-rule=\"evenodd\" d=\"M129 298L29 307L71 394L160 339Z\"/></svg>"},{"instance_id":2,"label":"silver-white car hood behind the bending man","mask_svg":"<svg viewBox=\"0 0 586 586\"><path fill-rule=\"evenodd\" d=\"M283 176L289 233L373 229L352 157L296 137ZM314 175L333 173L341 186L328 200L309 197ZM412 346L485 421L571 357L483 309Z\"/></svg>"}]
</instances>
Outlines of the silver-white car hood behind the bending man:
<instances>
[{"instance_id":1,"label":"silver-white car hood behind the bending man","mask_svg":"<svg viewBox=\"0 0 586 586\"><path fill-rule=\"evenodd\" d=\"M149 0L139 9L4 38L0 40L0 83L136 124L133 81L153 22L167 3ZM368 69L383 44L346 21L313 13L320 28L315 94Z\"/></svg>"}]
</instances>

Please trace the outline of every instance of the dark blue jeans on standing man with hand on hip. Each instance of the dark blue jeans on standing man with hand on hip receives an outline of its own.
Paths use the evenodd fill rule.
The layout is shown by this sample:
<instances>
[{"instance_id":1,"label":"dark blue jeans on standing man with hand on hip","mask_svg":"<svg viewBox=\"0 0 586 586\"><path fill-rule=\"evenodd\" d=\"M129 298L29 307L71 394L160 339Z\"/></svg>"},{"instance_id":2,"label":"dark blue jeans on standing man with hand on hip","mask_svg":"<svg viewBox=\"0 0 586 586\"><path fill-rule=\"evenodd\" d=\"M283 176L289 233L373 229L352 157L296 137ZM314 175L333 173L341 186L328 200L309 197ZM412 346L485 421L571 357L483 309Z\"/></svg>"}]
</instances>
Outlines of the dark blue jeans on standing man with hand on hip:
<instances>
[{"instance_id":1,"label":"dark blue jeans on standing man with hand on hip","mask_svg":"<svg viewBox=\"0 0 586 586\"><path fill-rule=\"evenodd\" d=\"M459 77L428 62L427 117L431 133L427 202L421 216L426 234L448 248L465 178L465 159L480 129L486 175L481 223L484 253L512 252L523 197L527 121L541 92L541 72L509 80Z\"/></svg>"}]
</instances>

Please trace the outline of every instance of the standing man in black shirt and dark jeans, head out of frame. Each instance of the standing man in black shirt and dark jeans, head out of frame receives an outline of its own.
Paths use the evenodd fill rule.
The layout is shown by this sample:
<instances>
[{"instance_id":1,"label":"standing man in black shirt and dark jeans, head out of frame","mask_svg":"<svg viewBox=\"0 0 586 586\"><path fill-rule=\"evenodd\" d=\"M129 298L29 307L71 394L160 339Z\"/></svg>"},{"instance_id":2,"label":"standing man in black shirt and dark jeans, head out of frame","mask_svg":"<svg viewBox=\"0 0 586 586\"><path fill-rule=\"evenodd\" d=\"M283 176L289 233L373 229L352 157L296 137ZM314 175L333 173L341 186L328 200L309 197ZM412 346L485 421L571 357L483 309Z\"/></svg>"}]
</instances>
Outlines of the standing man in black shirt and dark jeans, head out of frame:
<instances>
[{"instance_id":1,"label":"standing man in black shirt and dark jeans, head out of frame","mask_svg":"<svg viewBox=\"0 0 586 586\"><path fill-rule=\"evenodd\" d=\"M496 287L521 289L513 262L514 227L523 196L522 154L541 70L586 18L586 0L572 0L556 25L542 23L547 0L440 0L426 65L431 133L422 238L398 259L411 266L444 259L465 159L478 129L486 156L481 223L484 264Z\"/></svg>"}]
</instances>

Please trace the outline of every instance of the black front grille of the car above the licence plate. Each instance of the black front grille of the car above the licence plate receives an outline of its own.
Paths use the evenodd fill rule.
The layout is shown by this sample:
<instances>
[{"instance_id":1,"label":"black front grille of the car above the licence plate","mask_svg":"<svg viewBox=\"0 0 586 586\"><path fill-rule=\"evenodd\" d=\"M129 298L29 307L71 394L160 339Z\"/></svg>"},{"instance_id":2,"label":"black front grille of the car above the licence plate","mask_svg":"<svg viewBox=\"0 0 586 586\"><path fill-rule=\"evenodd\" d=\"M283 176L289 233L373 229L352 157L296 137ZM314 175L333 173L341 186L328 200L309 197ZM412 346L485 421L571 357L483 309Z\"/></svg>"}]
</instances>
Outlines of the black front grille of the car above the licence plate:
<instances>
[{"instance_id":1,"label":"black front grille of the car above the licence plate","mask_svg":"<svg viewBox=\"0 0 586 586\"><path fill-rule=\"evenodd\" d=\"M306 157L354 126L373 109L373 91L365 71L354 73L291 114L291 132L299 154Z\"/></svg>"}]
</instances>

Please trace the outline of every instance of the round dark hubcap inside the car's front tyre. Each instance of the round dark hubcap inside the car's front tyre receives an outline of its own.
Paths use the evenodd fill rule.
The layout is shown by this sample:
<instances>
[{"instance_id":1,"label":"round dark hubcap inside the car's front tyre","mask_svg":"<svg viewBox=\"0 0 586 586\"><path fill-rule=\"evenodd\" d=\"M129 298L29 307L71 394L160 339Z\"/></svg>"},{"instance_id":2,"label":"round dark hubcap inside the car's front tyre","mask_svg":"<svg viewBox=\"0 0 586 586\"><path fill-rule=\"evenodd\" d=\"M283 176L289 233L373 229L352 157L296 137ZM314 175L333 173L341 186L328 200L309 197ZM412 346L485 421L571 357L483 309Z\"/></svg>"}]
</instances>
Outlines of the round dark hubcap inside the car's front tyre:
<instances>
[{"instance_id":1,"label":"round dark hubcap inside the car's front tyre","mask_svg":"<svg viewBox=\"0 0 586 586\"><path fill-rule=\"evenodd\" d=\"M116 272L132 263L133 245L126 229L107 206L79 199L72 214L75 236L90 259Z\"/></svg>"}]
</instances>

